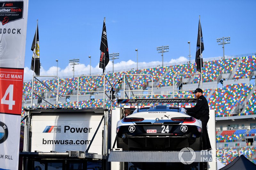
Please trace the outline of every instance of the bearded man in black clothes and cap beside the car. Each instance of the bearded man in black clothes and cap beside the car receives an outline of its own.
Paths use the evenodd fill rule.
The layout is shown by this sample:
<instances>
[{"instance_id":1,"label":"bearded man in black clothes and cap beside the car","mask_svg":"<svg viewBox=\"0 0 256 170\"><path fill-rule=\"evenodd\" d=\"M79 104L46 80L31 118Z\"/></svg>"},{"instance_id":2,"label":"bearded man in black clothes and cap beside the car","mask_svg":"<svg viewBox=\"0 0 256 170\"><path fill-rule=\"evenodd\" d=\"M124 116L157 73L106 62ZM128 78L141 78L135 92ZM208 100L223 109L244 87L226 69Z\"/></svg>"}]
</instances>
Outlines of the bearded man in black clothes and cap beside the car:
<instances>
[{"instance_id":1,"label":"bearded man in black clothes and cap beside the car","mask_svg":"<svg viewBox=\"0 0 256 170\"><path fill-rule=\"evenodd\" d=\"M209 139L209 135L207 132L207 123L209 120L209 105L207 102L207 99L203 96L203 90L202 89L196 89L192 92L196 95L197 103L196 106L193 108L189 108L187 110L188 114L190 116L195 117L196 119L200 119L202 121L202 140L203 140L203 150L210 150L211 149L211 143ZM191 113L189 113L191 112Z\"/></svg>"}]
</instances>

